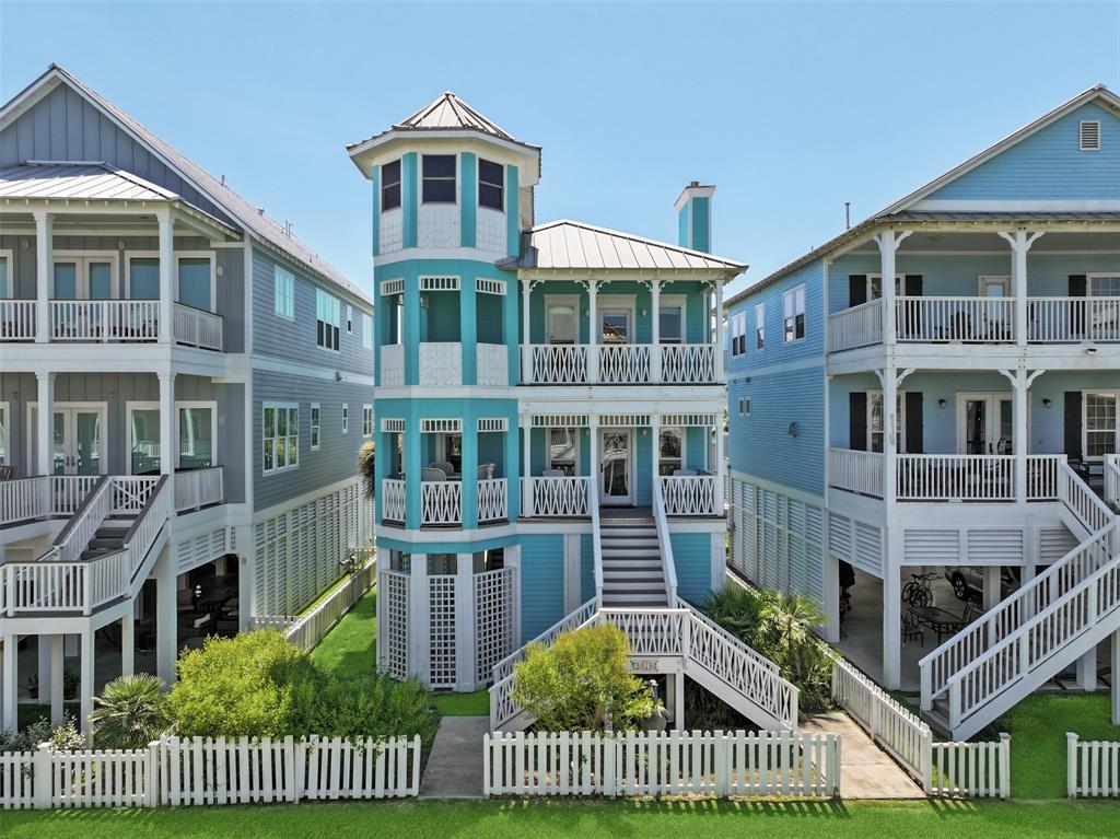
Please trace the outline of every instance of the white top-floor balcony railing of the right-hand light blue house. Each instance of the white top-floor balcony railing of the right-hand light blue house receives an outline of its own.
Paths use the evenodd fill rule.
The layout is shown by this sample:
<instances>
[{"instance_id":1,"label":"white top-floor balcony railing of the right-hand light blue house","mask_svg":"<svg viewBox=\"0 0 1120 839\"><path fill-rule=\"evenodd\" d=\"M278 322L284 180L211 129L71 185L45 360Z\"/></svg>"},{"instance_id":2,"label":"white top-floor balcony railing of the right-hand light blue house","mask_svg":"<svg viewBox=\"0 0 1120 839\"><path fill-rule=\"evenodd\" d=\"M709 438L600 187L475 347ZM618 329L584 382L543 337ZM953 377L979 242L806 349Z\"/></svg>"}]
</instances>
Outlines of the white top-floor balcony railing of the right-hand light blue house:
<instances>
[{"instance_id":1,"label":"white top-floor balcony railing of the right-hand light blue house","mask_svg":"<svg viewBox=\"0 0 1120 839\"><path fill-rule=\"evenodd\" d=\"M899 343L1006 344L1017 338L1014 297L899 297ZM883 300L829 316L829 352L881 344ZM1028 297L1034 344L1120 342L1120 297Z\"/></svg>"}]
</instances>

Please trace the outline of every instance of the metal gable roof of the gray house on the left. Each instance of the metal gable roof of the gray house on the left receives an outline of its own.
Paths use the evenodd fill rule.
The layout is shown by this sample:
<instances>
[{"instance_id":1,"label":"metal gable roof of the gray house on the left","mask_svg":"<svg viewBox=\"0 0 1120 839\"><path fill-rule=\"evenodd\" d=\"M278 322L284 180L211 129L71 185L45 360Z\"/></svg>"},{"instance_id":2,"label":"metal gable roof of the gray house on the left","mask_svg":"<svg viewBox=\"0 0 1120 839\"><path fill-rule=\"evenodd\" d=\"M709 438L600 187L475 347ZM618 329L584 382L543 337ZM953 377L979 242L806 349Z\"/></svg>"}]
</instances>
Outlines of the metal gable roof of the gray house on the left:
<instances>
[{"instance_id":1,"label":"metal gable roof of the gray house on the left","mask_svg":"<svg viewBox=\"0 0 1120 839\"><path fill-rule=\"evenodd\" d=\"M3 108L0 108L0 127L29 109L35 102L50 93L58 84L68 85L78 95L90 102L91 105L101 111L111 122L114 122L118 128L130 134L141 146L146 146L166 166L178 173L180 177L189 181L199 193L205 195L223 212L227 213L245 232L252 234L271 249L295 260L312 274L336 286L347 295L372 305L368 296L362 289L347 280L340 271L319 257L318 253L298 237L287 233L284 227L279 222L269 217L262 208L253 206L249 201L224 185L198 164L181 155L169 143L141 125L124 111L58 64L52 64L43 75L31 82L20 93L16 94Z\"/></svg>"}]
</instances>

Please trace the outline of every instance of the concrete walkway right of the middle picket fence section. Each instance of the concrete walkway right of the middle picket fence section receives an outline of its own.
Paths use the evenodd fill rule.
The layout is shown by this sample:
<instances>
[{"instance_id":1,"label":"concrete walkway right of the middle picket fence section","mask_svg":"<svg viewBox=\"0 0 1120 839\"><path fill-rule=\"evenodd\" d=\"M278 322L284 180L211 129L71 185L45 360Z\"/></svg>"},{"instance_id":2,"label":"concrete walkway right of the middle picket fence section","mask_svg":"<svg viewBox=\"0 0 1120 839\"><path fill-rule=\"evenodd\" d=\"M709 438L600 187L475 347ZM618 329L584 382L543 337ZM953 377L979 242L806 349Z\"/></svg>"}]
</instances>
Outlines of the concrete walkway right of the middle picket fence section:
<instances>
[{"instance_id":1,"label":"concrete walkway right of the middle picket fence section","mask_svg":"<svg viewBox=\"0 0 1120 839\"><path fill-rule=\"evenodd\" d=\"M923 799L925 794L867 731L840 711L810 717L805 734L839 734L840 795L844 799ZM422 787L421 787L422 789Z\"/></svg>"}]
</instances>

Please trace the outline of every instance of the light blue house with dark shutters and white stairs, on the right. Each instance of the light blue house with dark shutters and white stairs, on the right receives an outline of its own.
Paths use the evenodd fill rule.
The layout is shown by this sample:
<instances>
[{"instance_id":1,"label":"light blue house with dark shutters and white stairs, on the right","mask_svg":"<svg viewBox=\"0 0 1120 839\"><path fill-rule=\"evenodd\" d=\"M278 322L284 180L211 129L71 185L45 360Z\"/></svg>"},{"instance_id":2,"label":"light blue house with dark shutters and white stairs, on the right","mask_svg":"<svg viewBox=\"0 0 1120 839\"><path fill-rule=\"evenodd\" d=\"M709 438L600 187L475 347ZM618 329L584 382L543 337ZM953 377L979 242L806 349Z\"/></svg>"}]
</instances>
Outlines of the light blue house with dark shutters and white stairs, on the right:
<instances>
[{"instance_id":1,"label":"light blue house with dark shutters and white stairs, on the right","mask_svg":"<svg viewBox=\"0 0 1120 839\"><path fill-rule=\"evenodd\" d=\"M1074 662L1092 689L1110 635L1120 672L1114 595L1070 617L1120 562L1120 99L1082 93L726 314L738 572L816 597L958 736ZM961 630L904 604L923 569L993 610Z\"/></svg>"}]
</instances>

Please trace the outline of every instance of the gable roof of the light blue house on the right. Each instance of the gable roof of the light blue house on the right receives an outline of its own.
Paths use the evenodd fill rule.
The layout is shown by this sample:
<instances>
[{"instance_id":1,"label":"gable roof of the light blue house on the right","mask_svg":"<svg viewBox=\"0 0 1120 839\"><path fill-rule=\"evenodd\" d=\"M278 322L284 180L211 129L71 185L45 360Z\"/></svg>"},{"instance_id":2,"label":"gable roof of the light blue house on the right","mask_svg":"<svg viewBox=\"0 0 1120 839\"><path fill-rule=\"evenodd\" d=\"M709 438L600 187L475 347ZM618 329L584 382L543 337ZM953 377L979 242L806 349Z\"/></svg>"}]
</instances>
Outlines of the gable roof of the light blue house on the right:
<instances>
[{"instance_id":1,"label":"gable roof of the light blue house on the right","mask_svg":"<svg viewBox=\"0 0 1120 839\"><path fill-rule=\"evenodd\" d=\"M724 302L724 308L727 308L729 306L734 306L735 304L739 302L744 298L749 297L750 295L753 295L756 291L765 288L766 286L769 286L771 283L777 282L783 277L792 273L793 271L796 271L799 268L803 268L804 265L809 264L810 262L813 262L813 261L815 261L818 259L821 259L822 257L827 257L829 253L836 251L840 246L842 246L842 245L844 245L844 244L847 244L849 242L852 242L852 241L855 241L857 239L860 239L860 237L865 236L874 227L876 227L878 225L887 224L887 223L890 223L890 222L902 223L902 222L908 222L908 221L911 221L911 222L912 221L922 221L923 220L922 216L931 216L930 220L932 221L933 220L932 216L934 216L934 215L937 215L940 218L951 220L951 216L953 214L945 214L945 213L941 213L941 214L933 214L933 213L920 214L920 213L909 212L909 211L911 211L911 208L915 204L917 204L920 201L922 201L926 196L928 196L928 195L935 193L936 190L941 189L946 184L950 184L950 183L956 180L958 178L962 177L963 175L972 171L977 167L981 166L982 164L987 162L991 158L993 158L997 155L999 155L1001 151L1005 151L1005 150L1011 148L1012 146L1015 146L1016 143L1019 143L1023 140L1027 139L1028 137L1032 137L1033 134L1038 133L1039 131L1042 131L1047 125L1056 122L1057 120L1060 120L1063 116L1065 116L1067 113L1070 113L1072 111L1075 111L1076 109L1081 108L1082 105L1085 105L1085 104L1088 104L1090 102L1095 102L1095 101L1103 102L1105 106L1108 106L1111 110L1120 113L1120 96L1118 96L1117 94L1114 94L1112 91L1110 91L1103 84L1098 84L1098 85L1094 85L1094 86L1090 87L1089 90L1082 91L1081 93L1079 93L1073 99L1067 100L1066 102L1063 102L1061 105L1058 105L1057 108L1055 108L1053 111L1051 111L1051 112L1048 112L1046 114L1043 114L1042 116L1039 116L1034 122L1030 122L1027 125L1024 125L1019 130L1017 130L1017 131L1008 134L1007 137L1005 137L999 142L996 142L992 146L989 146L987 149L984 149L980 153L970 157L968 160L965 160L960 166L956 166L956 167L950 169L944 175L942 175L942 176L940 176L937 178L934 178L928 184L925 184L922 187L918 187L917 189L915 189L909 195L906 195L905 197L899 198L897 202L895 202L890 206L888 206L888 207L879 211L878 213L876 213L876 214L874 214L874 215L865 218L862 222L860 222L859 224L853 225L849 230L846 230L840 235L833 236L832 239L830 239L824 244L820 245L819 248L814 248L809 253L806 253L805 255L801 257L797 260L794 260L793 262L788 263L787 265L783 265L782 268L780 268L778 270L774 271L773 273L771 273L771 274L764 277L763 279L758 280L758 282L755 282L755 283L753 283L750 286L747 286L747 288L745 288L743 291L740 291L739 293L737 293L734 297L731 297L728 300L726 300ZM1002 214L999 214L999 213L997 213L997 214L972 213L972 214L970 214L971 217L968 221L981 221L981 218L979 216L983 216L983 220L1000 221L1004 217L1006 217L1007 215L1008 215L1007 213L1002 213ZM1060 220L1060 218L1065 218L1065 217L1070 216L1071 214L1070 213L1058 213L1058 214L1037 214L1037 213L1034 213L1034 214L1015 214L1015 215L1016 215L1017 218L1020 218L1020 217L1027 216L1027 215L1036 215L1036 216L1046 215L1047 218ZM1082 217L1099 216L1100 214L1099 213L1086 213L1086 214L1076 214L1076 215L1077 215L1079 218L1082 218Z\"/></svg>"}]
</instances>

